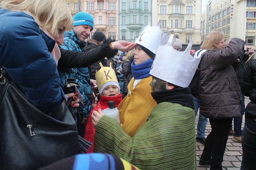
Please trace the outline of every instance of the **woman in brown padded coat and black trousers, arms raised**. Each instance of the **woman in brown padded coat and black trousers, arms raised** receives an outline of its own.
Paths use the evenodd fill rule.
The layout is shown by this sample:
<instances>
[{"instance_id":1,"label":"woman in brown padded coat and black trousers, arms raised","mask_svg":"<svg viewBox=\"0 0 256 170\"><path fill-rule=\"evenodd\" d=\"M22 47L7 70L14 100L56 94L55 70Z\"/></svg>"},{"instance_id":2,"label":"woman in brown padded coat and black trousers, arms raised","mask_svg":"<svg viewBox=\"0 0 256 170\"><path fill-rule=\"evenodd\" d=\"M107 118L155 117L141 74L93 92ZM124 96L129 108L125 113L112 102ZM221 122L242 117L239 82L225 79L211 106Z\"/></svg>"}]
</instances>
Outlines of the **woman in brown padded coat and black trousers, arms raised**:
<instances>
[{"instance_id":1,"label":"woman in brown padded coat and black trousers, arms raised","mask_svg":"<svg viewBox=\"0 0 256 170\"><path fill-rule=\"evenodd\" d=\"M221 32L210 32L201 46L207 50L200 64L200 114L209 118L212 131L207 136L199 165L221 170L233 117L241 117L241 90L234 68L241 61L244 40L233 38L224 48ZM233 67L232 67L233 66Z\"/></svg>"}]
</instances>

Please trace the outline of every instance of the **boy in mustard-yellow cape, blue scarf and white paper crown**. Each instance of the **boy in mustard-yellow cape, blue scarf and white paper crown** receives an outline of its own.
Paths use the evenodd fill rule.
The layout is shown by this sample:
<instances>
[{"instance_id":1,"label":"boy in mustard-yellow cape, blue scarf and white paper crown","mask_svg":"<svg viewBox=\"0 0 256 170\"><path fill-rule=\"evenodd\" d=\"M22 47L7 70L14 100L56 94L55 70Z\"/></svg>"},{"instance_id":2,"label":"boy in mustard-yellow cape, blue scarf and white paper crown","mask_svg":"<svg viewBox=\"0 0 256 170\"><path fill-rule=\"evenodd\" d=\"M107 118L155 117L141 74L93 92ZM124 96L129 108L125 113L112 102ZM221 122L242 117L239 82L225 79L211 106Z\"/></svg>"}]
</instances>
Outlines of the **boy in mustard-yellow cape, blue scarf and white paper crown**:
<instances>
[{"instance_id":1,"label":"boy in mustard-yellow cape, blue scarf and white paper crown","mask_svg":"<svg viewBox=\"0 0 256 170\"><path fill-rule=\"evenodd\" d=\"M118 106L122 128L131 137L146 122L150 110L156 106L156 101L150 95L152 90L149 83L152 77L149 71L164 34L160 25L161 20L156 26L148 24L135 41L137 46L131 65L133 78L128 84L127 96Z\"/></svg>"}]
</instances>

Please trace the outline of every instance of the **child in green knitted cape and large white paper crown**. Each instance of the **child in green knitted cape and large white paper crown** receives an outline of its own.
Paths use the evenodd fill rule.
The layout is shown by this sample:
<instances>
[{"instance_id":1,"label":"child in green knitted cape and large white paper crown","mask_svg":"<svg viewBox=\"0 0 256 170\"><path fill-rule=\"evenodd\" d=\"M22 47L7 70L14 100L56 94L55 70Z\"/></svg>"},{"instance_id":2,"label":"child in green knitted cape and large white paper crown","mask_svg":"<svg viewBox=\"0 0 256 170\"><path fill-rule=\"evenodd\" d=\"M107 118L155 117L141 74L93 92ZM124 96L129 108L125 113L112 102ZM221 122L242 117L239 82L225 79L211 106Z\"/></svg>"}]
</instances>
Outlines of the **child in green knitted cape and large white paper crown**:
<instances>
[{"instance_id":1,"label":"child in green knitted cape and large white paper crown","mask_svg":"<svg viewBox=\"0 0 256 170\"><path fill-rule=\"evenodd\" d=\"M196 170L195 112L188 85L203 52L192 57L191 41L185 51L176 51L168 38L162 39L150 70L157 105L147 122L131 138L113 118L93 111L95 152L116 155L140 169Z\"/></svg>"}]
</instances>

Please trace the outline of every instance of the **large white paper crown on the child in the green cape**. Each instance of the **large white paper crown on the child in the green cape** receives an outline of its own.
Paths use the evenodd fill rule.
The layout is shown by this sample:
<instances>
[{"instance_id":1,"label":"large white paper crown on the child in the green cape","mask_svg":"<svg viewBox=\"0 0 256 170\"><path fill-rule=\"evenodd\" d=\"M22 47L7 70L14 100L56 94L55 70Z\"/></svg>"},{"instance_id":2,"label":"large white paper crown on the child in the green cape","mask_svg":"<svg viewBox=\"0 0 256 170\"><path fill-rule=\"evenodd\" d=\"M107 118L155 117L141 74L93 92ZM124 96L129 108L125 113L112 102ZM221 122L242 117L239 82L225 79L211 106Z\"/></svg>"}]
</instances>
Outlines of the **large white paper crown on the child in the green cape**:
<instances>
[{"instance_id":1,"label":"large white paper crown on the child in the green cape","mask_svg":"<svg viewBox=\"0 0 256 170\"><path fill-rule=\"evenodd\" d=\"M201 55L206 50L201 51L198 56L197 51L195 57L192 57L190 55L192 41L189 42L185 51L176 51L172 47L172 43L175 41L173 36L170 37L171 41L168 40L169 35L164 35L149 73L176 86L188 87L196 72Z\"/></svg>"}]
</instances>

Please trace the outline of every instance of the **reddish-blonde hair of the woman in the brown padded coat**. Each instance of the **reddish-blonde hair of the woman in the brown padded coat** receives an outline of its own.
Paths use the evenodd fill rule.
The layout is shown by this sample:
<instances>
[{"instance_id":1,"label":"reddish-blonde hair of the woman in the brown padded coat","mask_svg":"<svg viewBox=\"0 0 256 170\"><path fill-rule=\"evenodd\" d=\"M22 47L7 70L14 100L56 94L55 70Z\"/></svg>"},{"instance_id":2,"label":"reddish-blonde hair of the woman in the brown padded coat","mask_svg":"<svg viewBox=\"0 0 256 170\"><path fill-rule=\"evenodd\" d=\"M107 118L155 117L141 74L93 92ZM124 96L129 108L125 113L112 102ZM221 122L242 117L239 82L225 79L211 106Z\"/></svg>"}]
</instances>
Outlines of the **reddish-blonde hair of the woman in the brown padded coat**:
<instances>
[{"instance_id":1,"label":"reddish-blonde hair of the woman in the brown padded coat","mask_svg":"<svg viewBox=\"0 0 256 170\"><path fill-rule=\"evenodd\" d=\"M201 48L205 50L218 49L219 42L223 38L224 34L222 32L212 31L205 37Z\"/></svg>"}]
</instances>

